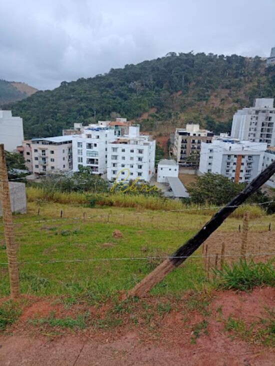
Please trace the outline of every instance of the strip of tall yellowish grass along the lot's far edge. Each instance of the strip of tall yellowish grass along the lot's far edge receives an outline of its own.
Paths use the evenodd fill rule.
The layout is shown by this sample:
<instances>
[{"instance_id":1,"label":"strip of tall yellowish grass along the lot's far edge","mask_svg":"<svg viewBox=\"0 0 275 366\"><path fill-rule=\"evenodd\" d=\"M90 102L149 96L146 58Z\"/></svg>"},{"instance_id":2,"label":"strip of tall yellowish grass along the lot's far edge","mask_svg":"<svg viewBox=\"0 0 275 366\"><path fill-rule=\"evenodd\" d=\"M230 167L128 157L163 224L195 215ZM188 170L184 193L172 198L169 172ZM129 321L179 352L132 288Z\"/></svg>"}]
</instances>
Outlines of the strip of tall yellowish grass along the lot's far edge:
<instances>
[{"instance_id":1,"label":"strip of tall yellowish grass along the lot's far edge","mask_svg":"<svg viewBox=\"0 0 275 366\"><path fill-rule=\"evenodd\" d=\"M123 194L120 192L114 193L78 193L78 192L48 192L46 190L27 187L26 188L27 200L29 202L41 203L55 202L61 204L80 204L93 207L98 206L114 206L114 207L131 207L137 209L148 210L162 210L162 211L181 211L188 210L189 214L203 214L213 215L217 211L217 207L203 206L200 207L194 204L185 204L182 201L172 200L170 198L157 197L157 196L145 196L142 194ZM265 211L256 205L242 205L237 208L232 214L233 218L241 218L243 213L248 211L250 218L261 217L265 214Z\"/></svg>"}]
</instances>

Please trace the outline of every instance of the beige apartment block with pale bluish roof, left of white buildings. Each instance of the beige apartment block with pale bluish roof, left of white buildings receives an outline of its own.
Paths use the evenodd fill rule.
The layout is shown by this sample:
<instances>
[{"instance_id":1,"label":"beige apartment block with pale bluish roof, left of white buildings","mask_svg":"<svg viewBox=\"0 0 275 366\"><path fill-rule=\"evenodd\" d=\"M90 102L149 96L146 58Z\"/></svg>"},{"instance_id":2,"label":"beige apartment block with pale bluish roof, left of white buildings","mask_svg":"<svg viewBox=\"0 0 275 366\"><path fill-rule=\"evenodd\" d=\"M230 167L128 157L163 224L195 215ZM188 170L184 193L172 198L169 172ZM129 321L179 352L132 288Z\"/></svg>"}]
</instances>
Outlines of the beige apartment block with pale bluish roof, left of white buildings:
<instances>
[{"instance_id":1,"label":"beige apartment block with pale bluish roof, left of white buildings","mask_svg":"<svg viewBox=\"0 0 275 366\"><path fill-rule=\"evenodd\" d=\"M57 173L72 169L73 136L55 136L31 140L32 172Z\"/></svg>"}]
</instances>

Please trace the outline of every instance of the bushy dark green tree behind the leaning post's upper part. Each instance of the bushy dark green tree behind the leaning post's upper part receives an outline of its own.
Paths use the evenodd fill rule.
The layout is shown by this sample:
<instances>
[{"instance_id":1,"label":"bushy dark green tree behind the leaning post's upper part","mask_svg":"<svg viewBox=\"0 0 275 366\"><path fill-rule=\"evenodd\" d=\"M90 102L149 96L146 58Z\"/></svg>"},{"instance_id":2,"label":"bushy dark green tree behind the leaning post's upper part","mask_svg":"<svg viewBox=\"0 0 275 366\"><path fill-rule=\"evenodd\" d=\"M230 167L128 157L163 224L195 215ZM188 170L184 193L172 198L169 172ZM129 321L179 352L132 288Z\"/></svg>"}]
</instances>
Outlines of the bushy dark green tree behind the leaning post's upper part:
<instances>
[{"instance_id":1,"label":"bushy dark green tree behind the leaning post's upper part","mask_svg":"<svg viewBox=\"0 0 275 366\"><path fill-rule=\"evenodd\" d=\"M235 183L220 174L206 173L196 177L196 181L187 186L190 200L196 204L220 206L242 191L245 183ZM260 203L270 200L263 192L254 193L248 201Z\"/></svg>"}]
</instances>

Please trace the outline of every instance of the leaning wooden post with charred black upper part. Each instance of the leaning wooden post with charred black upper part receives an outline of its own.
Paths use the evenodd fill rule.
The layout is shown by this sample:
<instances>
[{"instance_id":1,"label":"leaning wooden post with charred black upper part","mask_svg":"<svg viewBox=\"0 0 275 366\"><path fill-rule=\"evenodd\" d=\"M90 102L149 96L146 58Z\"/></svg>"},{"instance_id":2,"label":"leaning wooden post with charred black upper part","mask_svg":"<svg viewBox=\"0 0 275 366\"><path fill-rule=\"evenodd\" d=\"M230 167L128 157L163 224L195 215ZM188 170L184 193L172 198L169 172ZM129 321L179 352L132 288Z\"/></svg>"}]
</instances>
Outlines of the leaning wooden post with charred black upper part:
<instances>
[{"instance_id":1,"label":"leaning wooden post with charred black upper part","mask_svg":"<svg viewBox=\"0 0 275 366\"><path fill-rule=\"evenodd\" d=\"M212 232L214 232L222 222L235 209L240 206L248 197L259 189L275 173L275 160L265 168L256 178L252 180L240 193L238 193L225 207L217 211L214 216L186 243L180 246L173 254L165 259L151 273L137 283L129 292L128 296L144 296L155 284L160 282L166 274L178 267L187 259Z\"/></svg>"}]
</instances>

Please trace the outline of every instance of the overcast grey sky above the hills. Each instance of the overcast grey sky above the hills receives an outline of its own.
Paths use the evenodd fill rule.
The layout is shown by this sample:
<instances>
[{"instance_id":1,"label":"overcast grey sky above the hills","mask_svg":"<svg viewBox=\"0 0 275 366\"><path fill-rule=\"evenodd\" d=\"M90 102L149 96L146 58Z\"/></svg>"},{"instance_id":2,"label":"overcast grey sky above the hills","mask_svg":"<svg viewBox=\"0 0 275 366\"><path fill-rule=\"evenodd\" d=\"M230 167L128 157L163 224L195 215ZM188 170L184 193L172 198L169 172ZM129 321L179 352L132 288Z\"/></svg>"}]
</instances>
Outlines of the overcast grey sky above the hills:
<instances>
[{"instance_id":1,"label":"overcast grey sky above the hills","mask_svg":"<svg viewBox=\"0 0 275 366\"><path fill-rule=\"evenodd\" d=\"M0 79L53 89L167 52L269 55L274 0L2 0Z\"/></svg>"}]
</instances>

